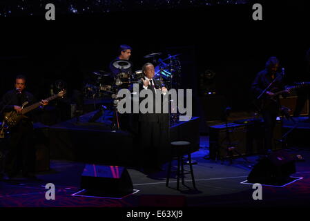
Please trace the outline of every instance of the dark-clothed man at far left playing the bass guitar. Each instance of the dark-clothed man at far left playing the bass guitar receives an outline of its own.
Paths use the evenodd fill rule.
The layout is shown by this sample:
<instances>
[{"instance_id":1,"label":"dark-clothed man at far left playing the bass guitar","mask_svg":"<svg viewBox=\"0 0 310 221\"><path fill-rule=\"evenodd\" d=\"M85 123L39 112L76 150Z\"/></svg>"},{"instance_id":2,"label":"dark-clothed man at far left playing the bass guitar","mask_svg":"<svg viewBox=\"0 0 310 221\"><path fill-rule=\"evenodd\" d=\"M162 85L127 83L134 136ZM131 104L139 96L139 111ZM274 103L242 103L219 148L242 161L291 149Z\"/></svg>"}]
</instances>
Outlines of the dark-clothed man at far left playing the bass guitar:
<instances>
[{"instance_id":1,"label":"dark-clothed man at far left playing the bass guitar","mask_svg":"<svg viewBox=\"0 0 310 221\"><path fill-rule=\"evenodd\" d=\"M25 90L26 77L18 75L14 87L3 96L1 103L3 112L21 113L25 102L28 102L27 105L35 103L35 97ZM48 102L42 100L41 104L45 106ZM23 177L35 178L30 173L35 165L35 149L32 145L33 126L30 118L23 118L16 126L10 128L8 153L4 163L5 180L16 176L20 170Z\"/></svg>"}]
</instances>

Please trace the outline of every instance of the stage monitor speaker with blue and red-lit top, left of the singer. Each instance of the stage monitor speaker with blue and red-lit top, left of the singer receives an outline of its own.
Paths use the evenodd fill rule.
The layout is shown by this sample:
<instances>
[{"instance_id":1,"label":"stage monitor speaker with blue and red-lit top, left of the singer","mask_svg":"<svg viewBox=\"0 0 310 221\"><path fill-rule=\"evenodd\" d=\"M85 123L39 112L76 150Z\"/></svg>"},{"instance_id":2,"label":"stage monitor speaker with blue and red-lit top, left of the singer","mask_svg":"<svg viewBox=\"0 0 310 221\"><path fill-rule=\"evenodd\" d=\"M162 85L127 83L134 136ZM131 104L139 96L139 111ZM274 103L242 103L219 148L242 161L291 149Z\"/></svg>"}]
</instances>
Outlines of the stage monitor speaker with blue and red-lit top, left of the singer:
<instances>
[{"instance_id":1,"label":"stage monitor speaker with blue and red-lit top, left of the singer","mask_svg":"<svg viewBox=\"0 0 310 221\"><path fill-rule=\"evenodd\" d=\"M123 166L86 164L81 175L81 188L92 193L119 197L133 193L133 182Z\"/></svg>"}]
</instances>

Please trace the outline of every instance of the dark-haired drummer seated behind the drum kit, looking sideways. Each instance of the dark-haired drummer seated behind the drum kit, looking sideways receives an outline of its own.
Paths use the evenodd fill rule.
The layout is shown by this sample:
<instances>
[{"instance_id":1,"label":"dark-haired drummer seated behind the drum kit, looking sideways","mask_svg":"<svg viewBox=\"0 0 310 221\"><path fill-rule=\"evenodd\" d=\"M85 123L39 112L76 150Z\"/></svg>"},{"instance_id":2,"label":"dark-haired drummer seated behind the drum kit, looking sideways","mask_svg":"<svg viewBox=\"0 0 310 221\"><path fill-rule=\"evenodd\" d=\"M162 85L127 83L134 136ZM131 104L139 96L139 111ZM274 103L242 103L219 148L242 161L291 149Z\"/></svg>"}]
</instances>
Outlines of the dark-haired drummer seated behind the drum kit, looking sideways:
<instances>
[{"instance_id":1,"label":"dark-haired drummer seated behind the drum kit, looking sideways","mask_svg":"<svg viewBox=\"0 0 310 221\"><path fill-rule=\"evenodd\" d=\"M119 73L128 73L128 75L132 75L132 65L130 66L130 68L127 69L119 69L119 68L115 68L115 66L113 66L113 62L119 59L122 60L129 60L130 59L130 55L131 55L131 50L132 48L130 46L127 46L126 44L122 44L119 46L119 56L114 59L111 63L110 63L110 73L112 73L113 77L116 77ZM130 62L131 63L131 62Z\"/></svg>"}]
</instances>

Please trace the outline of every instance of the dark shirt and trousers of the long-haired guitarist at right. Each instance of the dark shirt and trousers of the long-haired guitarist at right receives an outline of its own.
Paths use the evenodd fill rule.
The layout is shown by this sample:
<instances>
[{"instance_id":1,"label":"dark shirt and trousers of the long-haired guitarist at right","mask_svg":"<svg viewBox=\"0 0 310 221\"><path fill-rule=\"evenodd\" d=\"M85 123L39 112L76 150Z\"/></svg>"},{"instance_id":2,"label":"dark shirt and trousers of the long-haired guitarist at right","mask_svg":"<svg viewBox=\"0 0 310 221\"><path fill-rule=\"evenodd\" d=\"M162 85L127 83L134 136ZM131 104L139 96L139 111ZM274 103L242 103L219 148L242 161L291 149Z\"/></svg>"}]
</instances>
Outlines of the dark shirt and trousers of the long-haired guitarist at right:
<instances>
[{"instance_id":1,"label":"dark shirt and trousers of the long-haired guitarist at right","mask_svg":"<svg viewBox=\"0 0 310 221\"><path fill-rule=\"evenodd\" d=\"M282 73L275 73L276 79L268 91L276 93L280 90L284 90L283 75ZM252 90L255 96L258 97L265 88L273 81L271 74L268 70L262 70L258 75L256 75L255 80L252 84ZM272 149L273 143L273 129L277 121L277 116L280 110L280 100L279 97L270 99L268 95L264 94L261 97L260 102L260 112L264 119L264 148L262 149L263 154L267 154L268 150Z\"/></svg>"}]
</instances>

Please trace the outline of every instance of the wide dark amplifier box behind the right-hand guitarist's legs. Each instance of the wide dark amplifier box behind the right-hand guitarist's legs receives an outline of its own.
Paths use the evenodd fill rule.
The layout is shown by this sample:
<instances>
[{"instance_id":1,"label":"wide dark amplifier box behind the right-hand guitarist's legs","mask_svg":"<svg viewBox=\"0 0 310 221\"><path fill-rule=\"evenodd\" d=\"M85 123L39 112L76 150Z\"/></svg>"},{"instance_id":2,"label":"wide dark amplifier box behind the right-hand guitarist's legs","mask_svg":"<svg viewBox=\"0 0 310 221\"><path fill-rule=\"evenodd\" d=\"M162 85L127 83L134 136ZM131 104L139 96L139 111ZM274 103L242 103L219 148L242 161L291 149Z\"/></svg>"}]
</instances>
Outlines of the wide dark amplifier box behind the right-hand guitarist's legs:
<instances>
[{"instance_id":1,"label":"wide dark amplifier box behind the right-hand guitarist's legs","mask_svg":"<svg viewBox=\"0 0 310 221\"><path fill-rule=\"evenodd\" d=\"M209 128L209 157L212 160L223 160L230 157L228 148L233 146L233 157L255 155L260 153L264 147L264 122L255 121L250 124L218 124ZM276 142L282 137L282 122L277 121L273 134L273 150L281 149L282 146ZM229 146L229 138L231 146Z\"/></svg>"}]
</instances>

